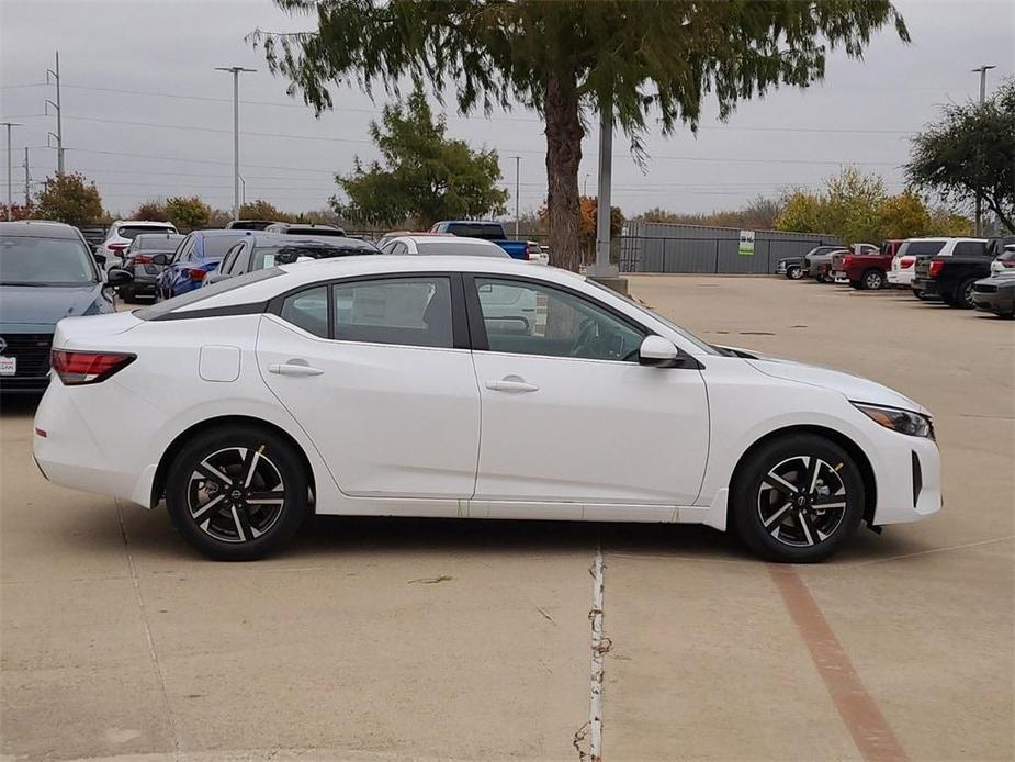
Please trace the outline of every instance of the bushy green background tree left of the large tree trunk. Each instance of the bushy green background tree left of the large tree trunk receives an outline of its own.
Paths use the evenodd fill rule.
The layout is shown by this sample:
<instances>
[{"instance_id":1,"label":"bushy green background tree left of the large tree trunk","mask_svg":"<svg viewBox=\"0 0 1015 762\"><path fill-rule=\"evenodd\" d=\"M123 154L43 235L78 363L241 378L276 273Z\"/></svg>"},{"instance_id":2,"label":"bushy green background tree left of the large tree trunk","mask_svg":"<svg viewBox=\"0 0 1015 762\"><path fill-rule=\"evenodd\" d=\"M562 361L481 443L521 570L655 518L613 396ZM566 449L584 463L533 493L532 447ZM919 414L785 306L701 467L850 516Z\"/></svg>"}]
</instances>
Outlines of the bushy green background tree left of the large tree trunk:
<instances>
[{"instance_id":1,"label":"bushy green background tree left of the large tree trunk","mask_svg":"<svg viewBox=\"0 0 1015 762\"><path fill-rule=\"evenodd\" d=\"M507 191L497 188L500 165L495 150L473 150L446 136L443 116L436 122L421 90L405 107L387 105L383 127L370 124L370 136L383 166L364 166L336 181L349 199L331 199L335 211L356 222L394 224L414 217L427 229L438 220L503 214Z\"/></svg>"}]
</instances>

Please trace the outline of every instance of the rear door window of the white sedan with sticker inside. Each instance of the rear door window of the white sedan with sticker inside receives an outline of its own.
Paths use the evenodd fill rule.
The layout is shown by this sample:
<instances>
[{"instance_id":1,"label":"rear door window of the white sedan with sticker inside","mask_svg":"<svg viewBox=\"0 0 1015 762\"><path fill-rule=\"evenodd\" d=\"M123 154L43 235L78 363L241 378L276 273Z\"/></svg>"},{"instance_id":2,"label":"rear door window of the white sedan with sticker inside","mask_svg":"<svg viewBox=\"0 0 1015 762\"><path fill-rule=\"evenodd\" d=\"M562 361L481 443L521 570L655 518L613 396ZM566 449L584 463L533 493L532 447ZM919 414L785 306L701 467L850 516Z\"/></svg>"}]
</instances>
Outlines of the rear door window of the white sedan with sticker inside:
<instances>
[{"instance_id":1,"label":"rear door window of the white sedan with sticker inside","mask_svg":"<svg viewBox=\"0 0 1015 762\"><path fill-rule=\"evenodd\" d=\"M332 289L335 338L339 340L454 346L448 278L383 278Z\"/></svg>"}]
</instances>

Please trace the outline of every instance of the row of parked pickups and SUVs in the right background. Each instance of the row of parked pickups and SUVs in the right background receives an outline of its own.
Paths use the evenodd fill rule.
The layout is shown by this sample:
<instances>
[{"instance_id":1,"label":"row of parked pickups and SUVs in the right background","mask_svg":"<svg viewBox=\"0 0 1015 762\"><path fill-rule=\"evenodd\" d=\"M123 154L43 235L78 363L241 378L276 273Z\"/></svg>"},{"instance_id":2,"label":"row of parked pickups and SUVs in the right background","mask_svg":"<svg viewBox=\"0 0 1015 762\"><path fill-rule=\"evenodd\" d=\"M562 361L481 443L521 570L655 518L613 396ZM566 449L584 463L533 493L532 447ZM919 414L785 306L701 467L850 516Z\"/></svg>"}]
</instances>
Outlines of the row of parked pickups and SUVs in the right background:
<instances>
[{"instance_id":1,"label":"row of parked pickups and SUVs in the right background","mask_svg":"<svg viewBox=\"0 0 1015 762\"><path fill-rule=\"evenodd\" d=\"M921 300L1004 317L1015 314L1015 236L907 238L850 249L817 246L804 257L780 260L777 272L854 289L909 289Z\"/></svg>"}]
</instances>

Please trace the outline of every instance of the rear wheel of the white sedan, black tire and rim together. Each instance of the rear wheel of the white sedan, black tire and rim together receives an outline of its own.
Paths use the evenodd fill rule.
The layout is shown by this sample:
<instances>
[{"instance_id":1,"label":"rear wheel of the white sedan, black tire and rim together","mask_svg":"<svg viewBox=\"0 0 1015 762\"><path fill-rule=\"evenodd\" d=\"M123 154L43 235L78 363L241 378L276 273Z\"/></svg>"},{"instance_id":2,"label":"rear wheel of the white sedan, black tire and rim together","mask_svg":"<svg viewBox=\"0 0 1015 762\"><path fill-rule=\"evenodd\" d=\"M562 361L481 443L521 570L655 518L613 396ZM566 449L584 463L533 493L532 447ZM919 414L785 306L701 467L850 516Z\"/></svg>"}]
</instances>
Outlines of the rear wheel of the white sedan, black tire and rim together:
<instances>
[{"instance_id":1,"label":"rear wheel of the white sedan, black tire and rim together","mask_svg":"<svg viewBox=\"0 0 1015 762\"><path fill-rule=\"evenodd\" d=\"M199 552L249 561L277 550L303 524L307 474L300 455L271 432L252 425L207 430L173 458L166 505Z\"/></svg>"}]
</instances>

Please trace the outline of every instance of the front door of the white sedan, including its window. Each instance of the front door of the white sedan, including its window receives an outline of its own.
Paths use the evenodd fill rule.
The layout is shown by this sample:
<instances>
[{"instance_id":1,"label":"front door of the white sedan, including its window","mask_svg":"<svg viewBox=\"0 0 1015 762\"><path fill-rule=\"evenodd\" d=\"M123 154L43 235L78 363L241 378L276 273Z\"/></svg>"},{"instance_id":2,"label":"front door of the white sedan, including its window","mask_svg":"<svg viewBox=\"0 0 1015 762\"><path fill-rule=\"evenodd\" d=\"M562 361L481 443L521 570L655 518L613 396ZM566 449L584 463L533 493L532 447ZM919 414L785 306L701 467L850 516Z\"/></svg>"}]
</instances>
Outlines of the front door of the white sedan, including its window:
<instances>
[{"instance_id":1,"label":"front door of the white sedan, including its window","mask_svg":"<svg viewBox=\"0 0 1015 762\"><path fill-rule=\"evenodd\" d=\"M483 401L476 501L695 502L709 446L698 370L639 365L646 332L577 292L471 282L485 333L473 335Z\"/></svg>"}]
</instances>

